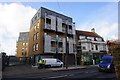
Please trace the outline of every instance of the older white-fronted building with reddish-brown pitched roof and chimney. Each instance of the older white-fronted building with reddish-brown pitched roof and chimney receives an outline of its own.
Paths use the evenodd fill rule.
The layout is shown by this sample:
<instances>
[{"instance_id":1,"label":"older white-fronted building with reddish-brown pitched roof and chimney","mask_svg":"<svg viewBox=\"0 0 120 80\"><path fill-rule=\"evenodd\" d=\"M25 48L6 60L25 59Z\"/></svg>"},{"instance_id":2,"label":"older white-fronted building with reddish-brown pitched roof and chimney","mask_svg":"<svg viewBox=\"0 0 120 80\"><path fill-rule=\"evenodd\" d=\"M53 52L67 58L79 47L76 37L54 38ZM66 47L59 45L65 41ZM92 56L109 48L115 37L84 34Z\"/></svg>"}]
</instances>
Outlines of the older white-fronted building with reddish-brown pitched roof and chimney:
<instances>
[{"instance_id":1,"label":"older white-fronted building with reddish-brown pitched roof and chimney","mask_svg":"<svg viewBox=\"0 0 120 80\"><path fill-rule=\"evenodd\" d=\"M107 54L107 43L95 32L76 30L77 59L81 64L97 64Z\"/></svg>"}]
</instances>

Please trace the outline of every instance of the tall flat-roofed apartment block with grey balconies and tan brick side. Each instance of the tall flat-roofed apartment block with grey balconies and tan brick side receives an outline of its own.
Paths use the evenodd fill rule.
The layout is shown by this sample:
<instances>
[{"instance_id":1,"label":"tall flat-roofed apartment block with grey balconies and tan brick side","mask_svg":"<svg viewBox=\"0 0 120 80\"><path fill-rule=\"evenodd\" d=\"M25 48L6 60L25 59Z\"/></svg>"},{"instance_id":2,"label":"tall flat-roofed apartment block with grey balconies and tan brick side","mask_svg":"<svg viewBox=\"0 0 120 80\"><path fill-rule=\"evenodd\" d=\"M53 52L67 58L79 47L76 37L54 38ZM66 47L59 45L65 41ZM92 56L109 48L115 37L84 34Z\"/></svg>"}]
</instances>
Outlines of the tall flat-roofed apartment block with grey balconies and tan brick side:
<instances>
[{"instance_id":1,"label":"tall flat-roofed apartment block with grey balconies and tan brick side","mask_svg":"<svg viewBox=\"0 0 120 80\"><path fill-rule=\"evenodd\" d=\"M30 26L29 54L34 63L44 57L55 57L64 62L68 54L68 63L73 64L75 34L71 17L41 7Z\"/></svg>"}]
</instances>

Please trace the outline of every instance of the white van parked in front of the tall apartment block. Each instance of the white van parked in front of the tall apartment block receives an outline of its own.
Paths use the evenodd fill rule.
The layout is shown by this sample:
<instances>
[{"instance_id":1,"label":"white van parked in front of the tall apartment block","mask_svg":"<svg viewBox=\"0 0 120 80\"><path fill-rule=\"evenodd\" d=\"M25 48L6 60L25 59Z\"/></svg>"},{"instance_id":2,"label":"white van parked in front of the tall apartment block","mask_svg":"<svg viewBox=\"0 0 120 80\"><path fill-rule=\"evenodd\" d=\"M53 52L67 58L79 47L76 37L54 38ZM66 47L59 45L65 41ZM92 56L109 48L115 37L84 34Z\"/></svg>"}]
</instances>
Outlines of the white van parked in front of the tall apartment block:
<instances>
[{"instance_id":1,"label":"white van parked in front of the tall apartment block","mask_svg":"<svg viewBox=\"0 0 120 80\"><path fill-rule=\"evenodd\" d=\"M45 61L45 66L49 67L62 67L63 62L56 58L43 58Z\"/></svg>"}]
</instances>

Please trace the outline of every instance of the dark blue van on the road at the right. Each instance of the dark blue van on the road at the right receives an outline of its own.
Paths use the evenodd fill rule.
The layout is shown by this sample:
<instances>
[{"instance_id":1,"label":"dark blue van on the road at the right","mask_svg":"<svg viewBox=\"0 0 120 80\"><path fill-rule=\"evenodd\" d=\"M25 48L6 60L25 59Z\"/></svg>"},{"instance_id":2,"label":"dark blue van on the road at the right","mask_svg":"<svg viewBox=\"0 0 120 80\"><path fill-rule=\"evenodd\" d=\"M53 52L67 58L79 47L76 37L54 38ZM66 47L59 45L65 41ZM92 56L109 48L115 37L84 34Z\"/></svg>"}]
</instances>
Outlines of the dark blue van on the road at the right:
<instances>
[{"instance_id":1,"label":"dark blue van on the road at the right","mask_svg":"<svg viewBox=\"0 0 120 80\"><path fill-rule=\"evenodd\" d=\"M103 56L98 64L99 71L114 72L113 56Z\"/></svg>"}]
</instances>

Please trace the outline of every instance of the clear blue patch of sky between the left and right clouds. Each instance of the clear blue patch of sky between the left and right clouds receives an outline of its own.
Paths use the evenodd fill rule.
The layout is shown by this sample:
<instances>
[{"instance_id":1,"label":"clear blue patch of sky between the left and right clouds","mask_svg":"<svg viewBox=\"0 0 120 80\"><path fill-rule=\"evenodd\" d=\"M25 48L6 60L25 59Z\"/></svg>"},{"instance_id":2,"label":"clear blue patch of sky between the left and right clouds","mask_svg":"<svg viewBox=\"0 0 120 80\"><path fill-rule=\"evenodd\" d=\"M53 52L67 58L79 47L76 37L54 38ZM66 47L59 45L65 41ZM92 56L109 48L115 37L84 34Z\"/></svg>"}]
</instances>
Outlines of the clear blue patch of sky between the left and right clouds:
<instances>
[{"instance_id":1,"label":"clear blue patch of sky between the left and right clouds","mask_svg":"<svg viewBox=\"0 0 120 80\"><path fill-rule=\"evenodd\" d=\"M56 12L70 16L76 22L76 27L79 27L79 24L85 23L86 20L91 18L91 16L101 14L97 12L108 5L113 5L117 8L117 3L113 2L32 2L22 4L24 4L25 6L31 6L32 8L35 8L37 10L40 8L40 6L43 6ZM105 10L103 10L103 12L105 12Z\"/></svg>"}]
</instances>

